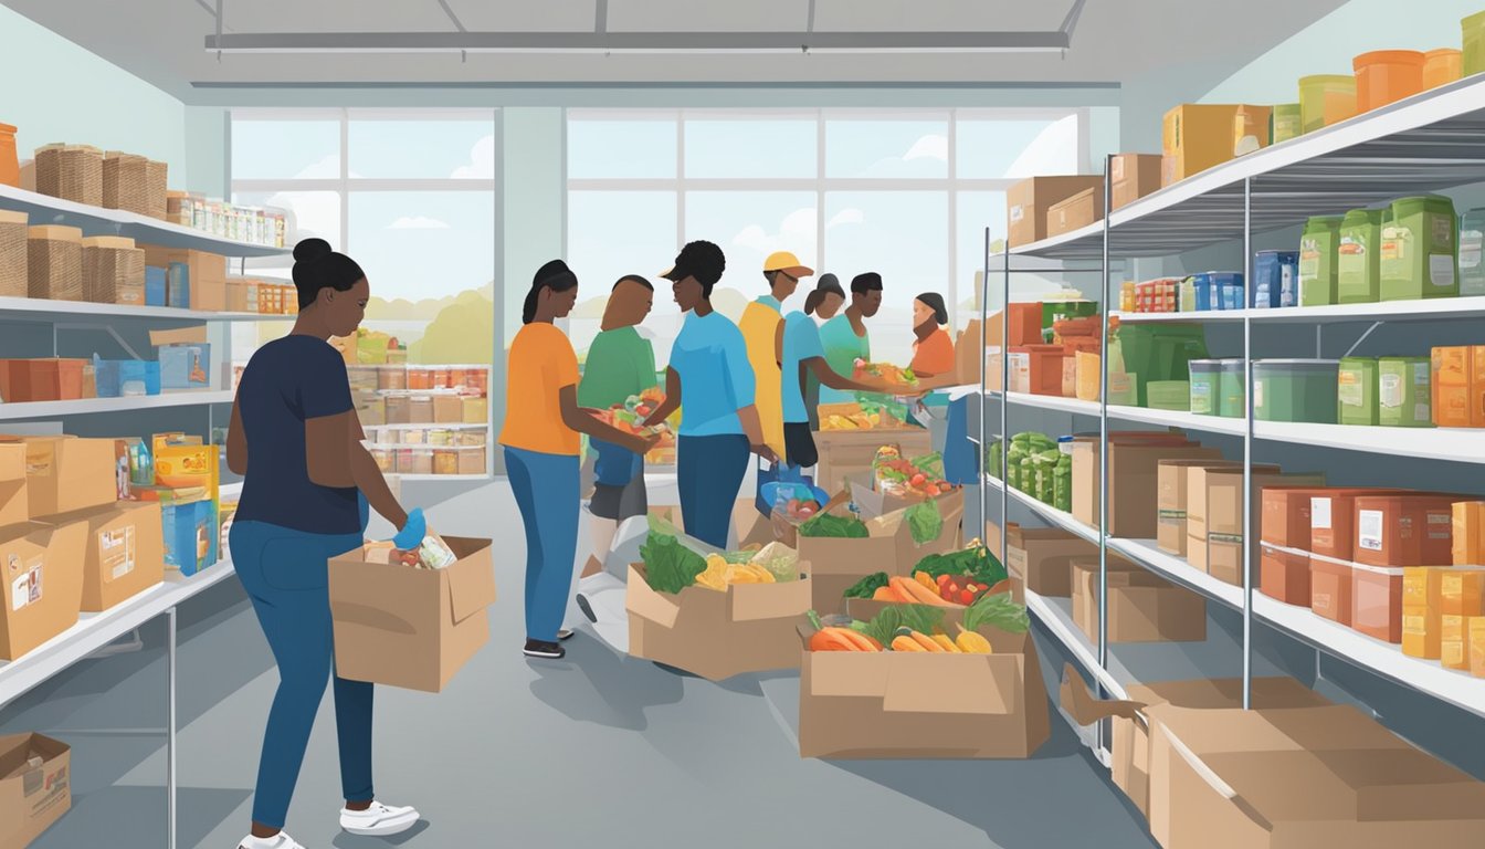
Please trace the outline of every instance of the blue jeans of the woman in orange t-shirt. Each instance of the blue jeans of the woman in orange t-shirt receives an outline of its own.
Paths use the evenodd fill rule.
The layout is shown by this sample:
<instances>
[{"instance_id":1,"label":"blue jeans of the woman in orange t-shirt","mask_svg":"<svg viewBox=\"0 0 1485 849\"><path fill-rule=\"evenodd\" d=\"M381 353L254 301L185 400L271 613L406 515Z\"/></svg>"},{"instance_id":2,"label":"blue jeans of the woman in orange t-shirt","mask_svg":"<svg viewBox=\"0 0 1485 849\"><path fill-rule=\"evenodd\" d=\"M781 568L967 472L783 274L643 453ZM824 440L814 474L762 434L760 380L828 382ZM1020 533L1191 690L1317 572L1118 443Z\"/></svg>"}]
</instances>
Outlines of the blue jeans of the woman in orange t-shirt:
<instances>
[{"instance_id":1,"label":"blue jeans of the woman in orange t-shirt","mask_svg":"<svg viewBox=\"0 0 1485 849\"><path fill-rule=\"evenodd\" d=\"M526 638L557 641L578 562L578 456L505 449L526 525Z\"/></svg>"}]
</instances>

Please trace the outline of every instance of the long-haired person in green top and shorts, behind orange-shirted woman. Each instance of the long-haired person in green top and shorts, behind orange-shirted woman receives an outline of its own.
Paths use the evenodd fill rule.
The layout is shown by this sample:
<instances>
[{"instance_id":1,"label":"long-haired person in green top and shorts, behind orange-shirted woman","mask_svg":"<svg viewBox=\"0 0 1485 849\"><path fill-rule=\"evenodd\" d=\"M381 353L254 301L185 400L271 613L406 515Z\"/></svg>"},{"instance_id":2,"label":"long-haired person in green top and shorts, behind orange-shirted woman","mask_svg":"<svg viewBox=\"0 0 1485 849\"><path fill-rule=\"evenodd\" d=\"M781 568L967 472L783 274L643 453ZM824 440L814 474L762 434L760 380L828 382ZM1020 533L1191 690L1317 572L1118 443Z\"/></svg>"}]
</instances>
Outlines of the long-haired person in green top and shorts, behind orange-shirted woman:
<instances>
[{"instance_id":1,"label":"long-haired person in green top and shorts, behind orange-shirted woman","mask_svg":"<svg viewBox=\"0 0 1485 849\"><path fill-rule=\"evenodd\" d=\"M628 275L613 284L601 332L588 346L582 381L578 382L578 406L604 410L659 384L655 378L655 348L636 329L653 305L655 287L643 277ZM612 442L590 439L588 445L595 459L593 498L588 501L593 555L582 571L585 578L603 569L619 523L649 511L644 458Z\"/></svg>"}]
</instances>

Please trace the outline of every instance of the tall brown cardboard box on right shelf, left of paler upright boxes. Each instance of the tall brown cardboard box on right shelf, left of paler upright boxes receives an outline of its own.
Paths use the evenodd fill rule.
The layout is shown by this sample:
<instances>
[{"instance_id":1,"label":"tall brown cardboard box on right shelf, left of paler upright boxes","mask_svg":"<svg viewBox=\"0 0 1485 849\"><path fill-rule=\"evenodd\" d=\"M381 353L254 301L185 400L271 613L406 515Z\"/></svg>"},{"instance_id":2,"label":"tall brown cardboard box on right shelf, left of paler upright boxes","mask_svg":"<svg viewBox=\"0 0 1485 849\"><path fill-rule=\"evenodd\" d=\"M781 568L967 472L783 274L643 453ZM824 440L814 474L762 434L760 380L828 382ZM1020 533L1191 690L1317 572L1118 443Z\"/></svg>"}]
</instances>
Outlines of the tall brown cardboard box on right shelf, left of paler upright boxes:
<instances>
[{"instance_id":1,"label":"tall brown cardboard box on right shelf, left of paler upright boxes","mask_svg":"<svg viewBox=\"0 0 1485 849\"><path fill-rule=\"evenodd\" d=\"M1109 443L1108 532L1127 540L1152 540L1160 531L1160 461L1222 458L1172 433L1111 433ZM1072 443L1072 514L1099 526L1099 437Z\"/></svg>"}]
</instances>

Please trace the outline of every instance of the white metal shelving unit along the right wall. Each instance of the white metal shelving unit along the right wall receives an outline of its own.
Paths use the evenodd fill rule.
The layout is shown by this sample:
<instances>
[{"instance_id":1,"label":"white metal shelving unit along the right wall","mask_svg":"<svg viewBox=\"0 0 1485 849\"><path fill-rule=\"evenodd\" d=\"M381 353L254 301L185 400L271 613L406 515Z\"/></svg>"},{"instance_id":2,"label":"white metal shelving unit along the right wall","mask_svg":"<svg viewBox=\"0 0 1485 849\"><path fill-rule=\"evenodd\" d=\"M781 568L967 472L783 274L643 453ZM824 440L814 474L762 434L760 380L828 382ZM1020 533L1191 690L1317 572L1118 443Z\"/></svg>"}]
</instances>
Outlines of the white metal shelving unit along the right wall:
<instances>
[{"instance_id":1,"label":"white metal shelving unit along the right wall","mask_svg":"<svg viewBox=\"0 0 1485 849\"><path fill-rule=\"evenodd\" d=\"M1105 174L1106 174L1105 168ZM1117 303L1111 277L1111 262L1135 257L1164 257L1198 248L1240 241L1243 245L1244 278L1252 280L1253 236L1282 227L1302 225L1317 214L1335 214L1359 207L1371 207L1399 196L1449 189L1485 181L1485 76L1473 76L1430 92L1394 103L1344 123L1329 126L1299 138L1276 144L1249 156L1219 165L1188 180L1169 186L1123 208L1114 210L1102 222L1044 239L1031 245L990 254L990 233L986 230L985 284L980 293L982 348L988 348L990 320L989 296L992 275L1002 281L1001 305L1010 302L1013 274L1038 272L1044 268L1017 268L1020 257L1037 260L1093 262L1102 274L1102 303ZM1109 183L1105 178L1105 210L1111 208ZM1069 269L1086 272L1086 268ZM1443 669L1436 662L1418 660L1390 645L1350 627L1325 620L1308 608L1282 604L1256 593L1258 553L1252 534L1252 465L1255 440L1271 440L1313 446L1325 451L1348 451L1415 456L1449 462L1485 462L1485 431L1452 428L1368 428L1344 425L1311 425L1258 422L1252 409L1252 330L1255 324L1342 324L1386 321L1455 321L1485 317L1485 297L1437 299L1417 302L1384 302L1289 309L1238 309L1195 314L1111 314L1103 309L1102 339L1108 349L1109 318L1120 321L1200 321L1240 324L1246 369L1247 410L1243 418L1201 416L1187 412L1149 410L1109 406L1106 372L1100 378L1100 400L1081 401L1045 396L989 391L982 360L980 446L989 445L992 400L999 400L998 433L1008 449L1013 433L1008 415L1013 406L1056 410L1096 418L1103 446L1108 445L1109 422L1145 422L1181 427L1192 431L1238 436L1243 439L1243 538L1246 565L1243 586L1218 581L1170 556L1149 540L1118 540L1078 522L1068 513L1054 510L1035 498L999 482L1005 480L1005 458L1001 452L998 476L982 474L982 520L988 516L988 501L998 492L1001 520L1010 514L1014 501L1028 507L1048 525L1066 529L1099 547L1099 607L1100 629L1096 641L1086 641L1077 629L1069 629L1065 611L1053 599L1032 598L1028 607L1045 629L1065 644L1071 656L1099 682L1105 693L1118 696L1118 665L1111 659L1108 622L1108 553L1140 564L1178 584L1201 593L1207 599L1238 611L1243 629L1238 650L1243 662L1243 703L1250 706L1250 684L1255 675L1253 623L1270 624L1316 648L1375 675L1485 717L1485 679ZM1001 339L1010 339L1010 315L1001 309ZM1010 363L1001 357L1001 384L1010 387ZM964 387L956 388L964 391ZM1099 480L1108 479L1108 452L1100 451ZM983 464L983 456L982 456ZM996 479L998 477L998 479ZM1108 526L1108 500L1100 500L1105 511L1100 526ZM1005 535L1001 555L1005 558ZM1121 650L1123 651L1123 650ZM1319 657L1319 654L1317 654ZM1261 660L1261 659L1258 659ZM1102 745L1102 742L1099 743Z\"/></svg>"}]
</instances>

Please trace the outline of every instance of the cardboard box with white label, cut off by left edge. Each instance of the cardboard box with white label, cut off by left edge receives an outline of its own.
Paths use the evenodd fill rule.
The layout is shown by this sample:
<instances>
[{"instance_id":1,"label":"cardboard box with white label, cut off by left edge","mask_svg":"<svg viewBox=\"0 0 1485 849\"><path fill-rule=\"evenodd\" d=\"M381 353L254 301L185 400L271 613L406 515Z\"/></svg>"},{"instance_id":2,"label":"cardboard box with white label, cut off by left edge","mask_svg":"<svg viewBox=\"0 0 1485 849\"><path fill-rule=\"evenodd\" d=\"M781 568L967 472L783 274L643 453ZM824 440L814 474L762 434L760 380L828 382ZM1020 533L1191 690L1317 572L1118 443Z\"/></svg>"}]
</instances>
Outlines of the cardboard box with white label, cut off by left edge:
<instances>
[{"instance_id":1,"label":"cardboard box with white label, cut off by left edge","mask_svg":"<svg viewBox=\"0 0 1485 849\"><path fill-rule=\"evenodd\" d=\"M86 525L0 528L0 660L15 660L77 624Z\"/></svg>"}]
</instances>

